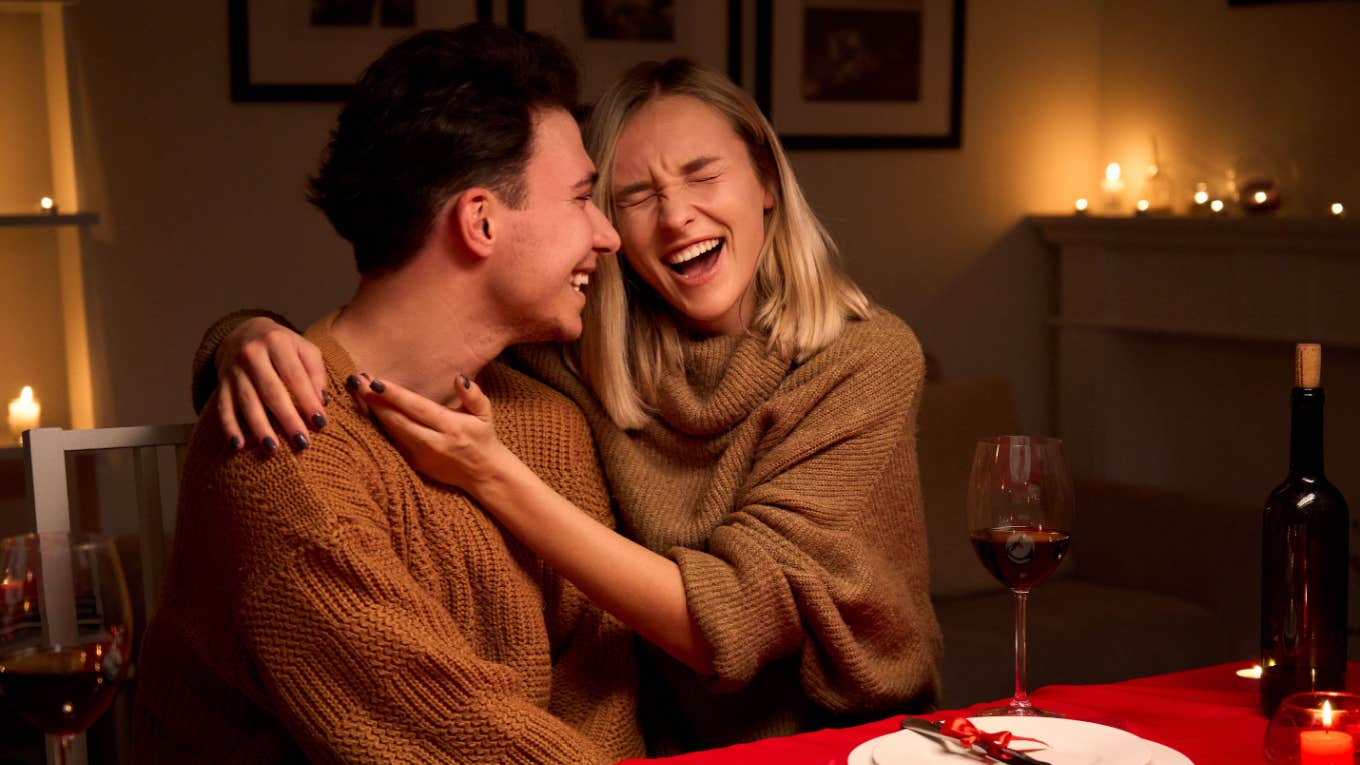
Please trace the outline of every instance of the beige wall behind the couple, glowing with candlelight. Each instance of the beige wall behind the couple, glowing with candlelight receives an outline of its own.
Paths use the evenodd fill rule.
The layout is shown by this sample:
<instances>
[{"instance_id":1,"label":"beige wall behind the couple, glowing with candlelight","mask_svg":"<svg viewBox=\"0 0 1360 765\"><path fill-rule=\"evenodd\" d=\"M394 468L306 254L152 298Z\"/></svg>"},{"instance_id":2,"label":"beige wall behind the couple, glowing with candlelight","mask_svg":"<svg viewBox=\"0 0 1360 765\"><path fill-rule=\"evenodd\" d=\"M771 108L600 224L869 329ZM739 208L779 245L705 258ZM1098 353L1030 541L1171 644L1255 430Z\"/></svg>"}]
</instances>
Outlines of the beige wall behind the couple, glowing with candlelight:
<instances>
[{"instance_id":1,"label":"beige wall behind the couple, glowing with candlelight","mask_svg":"<svg viewBox=\"0 0 1360 765\"><path fill-rule=\"evenodd\" d=\"M1342 151L1357 68L1342 35L1360 29L1357 11L974 0L962 150L802 151L794 163L851 272L942 373L1010 377L1025 427L1042 430L1049 264L1021 218L1070 208L1106 161L1137 162L1149 132L1172 173L1191 151L1210 165L1235 155L1262 129ZM99 422L185 419L189 354L211 319L265 305L307 321L354 286L301 191L335 106L231 103L224 5L68 12L82 192L102 215L86 245ZM1272 88L1238 64L1262 52L1277 61L1261 65ZM1213 139L1195 143L1202 133ZM1349 151L1323 169L1355 195Z\"/></svg>"}]
</instances>

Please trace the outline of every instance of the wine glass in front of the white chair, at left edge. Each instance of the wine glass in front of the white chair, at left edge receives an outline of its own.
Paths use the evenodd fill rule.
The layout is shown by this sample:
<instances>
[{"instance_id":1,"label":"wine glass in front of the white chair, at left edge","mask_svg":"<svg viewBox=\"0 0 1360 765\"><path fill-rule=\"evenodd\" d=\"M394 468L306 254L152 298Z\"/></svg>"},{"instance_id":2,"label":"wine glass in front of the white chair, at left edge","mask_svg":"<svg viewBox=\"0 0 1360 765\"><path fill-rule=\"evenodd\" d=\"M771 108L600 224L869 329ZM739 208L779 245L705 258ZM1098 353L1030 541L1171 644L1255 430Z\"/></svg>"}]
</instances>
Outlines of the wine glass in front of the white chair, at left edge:
<instances>
[{"instance_id":1,"label":"wine glass in front of the white chair, at left edge","mask_svg":"<svg viewBox=\"0 0 1360 765\"><path fill-rule=\"evenodd\" d=\"M132 649L132 604L113 540L29 534L0 540L0 694L71 739L113 702Z\"/></svg>"}]
</instances>

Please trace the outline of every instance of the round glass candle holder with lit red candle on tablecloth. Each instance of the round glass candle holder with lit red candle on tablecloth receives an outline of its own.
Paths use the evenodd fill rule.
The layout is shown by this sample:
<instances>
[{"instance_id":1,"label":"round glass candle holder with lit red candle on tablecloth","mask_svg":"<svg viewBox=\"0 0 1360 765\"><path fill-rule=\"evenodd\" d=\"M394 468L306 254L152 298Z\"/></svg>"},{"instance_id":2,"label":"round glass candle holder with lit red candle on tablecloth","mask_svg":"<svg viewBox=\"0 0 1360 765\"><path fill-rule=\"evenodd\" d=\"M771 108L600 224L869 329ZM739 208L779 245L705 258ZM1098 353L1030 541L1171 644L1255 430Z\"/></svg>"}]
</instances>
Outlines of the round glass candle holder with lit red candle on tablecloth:
<instances>
[{"instance_id":1,"label":"round glass candle holder with lit red candle on tablecloth","mask_svg":"<svg viewBox=\"0 0 1360 765\"><path fill-rule=\"evenodd\" d=\"M1353 765L1360 742L1360 694L1334 690L1295 693L1266 726L1272 765Z\"/></svg>"}]
</instances>

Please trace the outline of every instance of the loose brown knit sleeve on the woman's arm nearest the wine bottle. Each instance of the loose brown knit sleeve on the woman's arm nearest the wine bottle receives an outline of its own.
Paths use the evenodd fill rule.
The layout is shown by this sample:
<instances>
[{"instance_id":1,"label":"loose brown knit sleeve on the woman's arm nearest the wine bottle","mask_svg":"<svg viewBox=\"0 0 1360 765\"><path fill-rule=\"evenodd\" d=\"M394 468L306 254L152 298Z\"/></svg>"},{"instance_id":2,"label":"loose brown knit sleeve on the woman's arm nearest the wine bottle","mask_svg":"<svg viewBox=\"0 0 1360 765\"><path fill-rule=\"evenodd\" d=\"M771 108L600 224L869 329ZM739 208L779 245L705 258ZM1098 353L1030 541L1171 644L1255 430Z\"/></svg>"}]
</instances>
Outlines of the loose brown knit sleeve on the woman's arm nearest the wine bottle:
<instances>
[{"instance_id":1,"label":"loose brown knit sleeve on the woman's arm nearest the wine bottle","mask_svg":"<svg viewBox=\"0 0 1360 765\"><path fill-rule=\"evenodd\" d=\"M677 547L715 690L798 656L808 698L838 713L933 701L940 628L929 596L915 453L923 362L910 331L809 362L772 403L744 491L703 550Z\"/></svg>"}]
</instances>

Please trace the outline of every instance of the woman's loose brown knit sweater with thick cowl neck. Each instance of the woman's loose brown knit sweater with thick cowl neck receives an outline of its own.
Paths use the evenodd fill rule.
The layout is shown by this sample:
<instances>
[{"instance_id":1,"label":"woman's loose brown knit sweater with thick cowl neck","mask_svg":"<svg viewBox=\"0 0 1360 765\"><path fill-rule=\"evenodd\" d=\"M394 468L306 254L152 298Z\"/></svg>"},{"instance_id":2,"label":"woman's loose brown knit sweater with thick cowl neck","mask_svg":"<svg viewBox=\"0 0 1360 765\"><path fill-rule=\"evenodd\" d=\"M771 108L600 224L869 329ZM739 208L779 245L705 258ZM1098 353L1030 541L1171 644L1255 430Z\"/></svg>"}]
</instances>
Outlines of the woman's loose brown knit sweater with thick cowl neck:
<instances>
[{"instance_id":1,"label":"woman's loose brown knit sweater with thick cowl neck","mask_svg":"<svg viewBox=\"0 0 1360 765\"><path fill-rule=\"evenodd\" d=\"M915 422L923 359L876 309L802 365L691 340L657 418L622 432L552 346L511 351L586 414L622 530L673 558L715 653L642 651L651 754L923 709L936 696Z\"/></svg>"}]
</instances>

